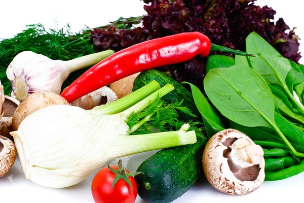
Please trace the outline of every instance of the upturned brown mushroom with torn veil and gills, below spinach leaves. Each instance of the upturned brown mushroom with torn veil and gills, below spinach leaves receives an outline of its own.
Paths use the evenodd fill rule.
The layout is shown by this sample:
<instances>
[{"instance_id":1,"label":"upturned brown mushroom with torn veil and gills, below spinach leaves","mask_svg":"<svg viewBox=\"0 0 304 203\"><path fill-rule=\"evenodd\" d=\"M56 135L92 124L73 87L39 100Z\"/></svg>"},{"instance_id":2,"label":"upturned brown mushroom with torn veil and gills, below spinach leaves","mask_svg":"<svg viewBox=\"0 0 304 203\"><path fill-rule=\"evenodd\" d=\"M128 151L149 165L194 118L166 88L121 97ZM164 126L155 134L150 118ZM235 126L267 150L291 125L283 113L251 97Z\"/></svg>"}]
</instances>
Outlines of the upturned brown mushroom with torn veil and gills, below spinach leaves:
<instances>
[{"instance_id":1,"label":"upturned brown mushroom with torn veil and gills, below spinach leaves","mask_svg":"<svg viewBox=\"0 0 304 203\"><path fill-rule=\"evenodd\" d=\"M225 129L211 137L203 153L203 170L209 183L227 194L244 195L264 181L263 149L246 134Z\"/></svg>"}]
</instances>

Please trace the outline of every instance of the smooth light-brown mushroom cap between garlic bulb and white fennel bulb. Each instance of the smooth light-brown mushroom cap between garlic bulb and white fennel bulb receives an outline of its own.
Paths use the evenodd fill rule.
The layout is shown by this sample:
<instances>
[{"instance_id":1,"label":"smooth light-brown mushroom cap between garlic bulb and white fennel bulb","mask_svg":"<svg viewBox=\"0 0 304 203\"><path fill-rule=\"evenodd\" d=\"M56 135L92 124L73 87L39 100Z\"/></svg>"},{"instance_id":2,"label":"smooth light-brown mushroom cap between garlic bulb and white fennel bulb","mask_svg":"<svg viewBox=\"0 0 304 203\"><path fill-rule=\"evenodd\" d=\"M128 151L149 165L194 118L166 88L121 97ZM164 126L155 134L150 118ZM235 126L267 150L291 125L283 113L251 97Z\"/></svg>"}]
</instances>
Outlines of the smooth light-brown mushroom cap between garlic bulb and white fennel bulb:
<instances>
[{"instance_id":1,"label":"smooth light-brown mushroom cap between garlic bulb and white fennel bulb","mask_svg":"<svg viewBox=\"0 0 304 203\"><path fill-rule=\"evenodd\" d=\"M67 100L51 91L34 92L17 107L13 115L12 128L18 130L20 123L30 114L52 105L69 105Z\"/></svg>"}]
</instances>

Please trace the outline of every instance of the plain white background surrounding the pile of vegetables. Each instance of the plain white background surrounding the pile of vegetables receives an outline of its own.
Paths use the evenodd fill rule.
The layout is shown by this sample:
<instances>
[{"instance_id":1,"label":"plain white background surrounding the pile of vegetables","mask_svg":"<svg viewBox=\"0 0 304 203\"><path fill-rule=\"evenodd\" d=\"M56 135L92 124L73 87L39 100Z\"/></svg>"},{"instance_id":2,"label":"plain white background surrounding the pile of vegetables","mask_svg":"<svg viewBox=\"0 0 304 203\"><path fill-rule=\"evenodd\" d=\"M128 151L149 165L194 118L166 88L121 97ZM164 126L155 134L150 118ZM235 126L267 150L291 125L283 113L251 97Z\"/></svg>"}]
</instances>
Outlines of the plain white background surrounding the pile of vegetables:
<instances>
[{"instance_id":1,"label":"plain white background surrounding the pile of vegetables","mask_svg":"<svg viewBox=\"0 0 304 203\"><path fill-rule=\"evenodd\" d=\"M259 0L260 6L269 5L277 11L276 19L283 17L292 28L296 28L299 38L304 39L304 24L302 22L301 0ZM0 39L13 37L20 32L26 24L42 23L47 28L53 28L55 21L60 26L70 23L71 28L77 32L85 28L97 27L107 24L108 21L118 19L120 16L130 17L144 15L143 3L140 0L91 0L91 1L5 1L0 0ZM300 51L304 52L303 41L300 41ZM300 62L303 63L304 59ZM0 61L1 62L1 61ZM148 156L155 153L137 154L123 159L131 172ZM131 159L130 159L131 158ZM130 160L129 160L130 159ZM128 163L128 164L127 164ZM65 189L45 188L26 180L17 159L12 170L0 178L1 202L93 202L91 196L91 182L97 171L82 183ZM178 173L178 172L177 172ZM175 200L181 202L302 202L304 186L304 173L292 178L264 182L262 186L244 196L231 196L213 189L204 180L192 187L183 196ZM136 202L144 202L138 196ZM115 203L115 202L113 202Z\"/></svg>"}]
</instances>

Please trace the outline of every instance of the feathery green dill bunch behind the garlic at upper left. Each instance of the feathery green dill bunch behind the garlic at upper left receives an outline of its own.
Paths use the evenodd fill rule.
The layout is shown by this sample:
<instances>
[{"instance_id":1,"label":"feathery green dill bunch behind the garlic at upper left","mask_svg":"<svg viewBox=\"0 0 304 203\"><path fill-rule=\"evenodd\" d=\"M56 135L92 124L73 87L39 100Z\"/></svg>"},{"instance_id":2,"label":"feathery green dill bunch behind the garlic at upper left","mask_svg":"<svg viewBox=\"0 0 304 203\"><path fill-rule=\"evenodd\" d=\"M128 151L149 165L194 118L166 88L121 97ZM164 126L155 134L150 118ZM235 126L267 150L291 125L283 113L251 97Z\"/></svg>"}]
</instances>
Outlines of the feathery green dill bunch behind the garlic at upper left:
<instances>
[{"instance_id":1,"label":"feathery green dill bunch behind the garlic at upper left","mask_svg":"<svg viewBox=\"0 0 304 203\"><path fill-rule=\"evenodd\" d=\"M119 28L130 29L133 24L141 22L142 16L131 18L119 18L110 22ZM98 28L106 28L109 25ZM40 23L26 25L25 29L10 39L0 39L0 80L4 86L4 93L10 95L11 82L6 76L6 70L14 57L22 51L32 51L43 54L53 60L70 60L80 56L95 53L91 41L91 30L87 28L73 33L69 24L47 30ZM62 89L70 85L90 67L71 73L63 83Z\"/></svg>"}]
</instances>

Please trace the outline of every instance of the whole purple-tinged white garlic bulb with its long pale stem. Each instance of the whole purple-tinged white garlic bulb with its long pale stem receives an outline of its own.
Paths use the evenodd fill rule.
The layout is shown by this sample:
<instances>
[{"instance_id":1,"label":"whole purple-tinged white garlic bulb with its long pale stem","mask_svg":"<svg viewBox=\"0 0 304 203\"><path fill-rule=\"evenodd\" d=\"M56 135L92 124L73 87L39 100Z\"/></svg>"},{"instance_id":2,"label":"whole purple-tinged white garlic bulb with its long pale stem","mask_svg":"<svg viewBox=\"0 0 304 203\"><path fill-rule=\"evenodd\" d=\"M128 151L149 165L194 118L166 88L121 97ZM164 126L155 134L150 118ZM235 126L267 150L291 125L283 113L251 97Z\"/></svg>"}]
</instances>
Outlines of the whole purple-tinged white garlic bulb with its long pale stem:
<instances>
[{"instance_id":1,"label":"whole purple-tinged white garlic bulb with its long pale stem","mask_svg":"<svg viewBox=\"0 0 304 203\"><path fill-rule=\"evenodd\" d=\"M60 94L61 86L70 73L94 65L114 52L103 52L82 56L69 61L52 60L42 54L23 51L15 56L7 69L12 83L11 96L23 100L36 91L52 91Z\"/></svg>"}]
</instances>

